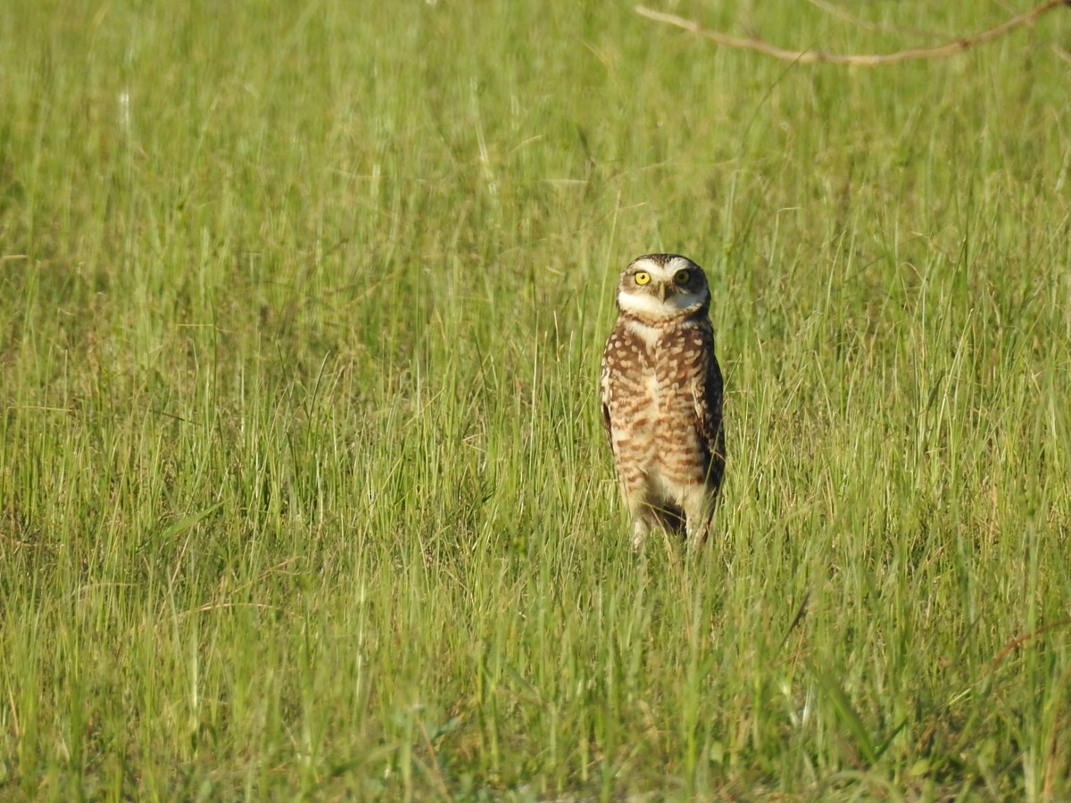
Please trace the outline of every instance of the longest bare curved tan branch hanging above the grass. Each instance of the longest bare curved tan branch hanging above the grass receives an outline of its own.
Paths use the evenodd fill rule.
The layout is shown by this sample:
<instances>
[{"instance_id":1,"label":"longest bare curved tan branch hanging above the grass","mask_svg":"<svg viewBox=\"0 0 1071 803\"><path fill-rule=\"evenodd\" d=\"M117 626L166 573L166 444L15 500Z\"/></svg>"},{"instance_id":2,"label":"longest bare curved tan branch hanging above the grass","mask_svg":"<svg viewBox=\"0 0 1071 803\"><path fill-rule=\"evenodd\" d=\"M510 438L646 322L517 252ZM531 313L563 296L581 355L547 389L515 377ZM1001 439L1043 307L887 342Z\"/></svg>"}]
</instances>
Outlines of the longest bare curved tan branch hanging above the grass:
<instances>
[{"instance_id":1,"label":"longest bare curved tan branch hanging above the grass","mask_svg":"<svg viewBox=\"0 0 1071 803\"><path fill-rule=\"evenodd\" d=\"M757 36L729 36L728 34L712 31L709 28L704 28L693 19L678 17L675 14L664 14L660 11L653 11L643 5L636 6L636 13L640 16L647 17L648 19L653 19L655 22L665 22L666 25L674 25L678 28L683 28L685 31L705 36L720 45L724 45L725 47L755 50L756 52L772 56L773 58L781 59L782 61L795 61L800 64L826 63L851 64L855 66L880 66L881 64L893 64L897 61L941 59L946 56L954 56L955 54L963 52L975 45L980 45L984 42L991 42L995 39L1004 36L1009 31L1027 25L1028 22L1032 22L1038 17L1043 14L1047 14L1053 9L1060 5L1071 6L1071 0L1049 0L1046 3L1042 3L1035 9L1030 9L1030 11L1023 12L1019 16L1012 17L1008 21L998 25L996 28L990 28L986 31L976 33L972 36L964 36L955 40L954 42L938 45L937 47L915 47L906 50L896 50L895 52L890 54L875 55L835 54L826 52L824 50L785 50L784 48L771 45L769 42L760 40Z\"/></svg>"}]
</instances>

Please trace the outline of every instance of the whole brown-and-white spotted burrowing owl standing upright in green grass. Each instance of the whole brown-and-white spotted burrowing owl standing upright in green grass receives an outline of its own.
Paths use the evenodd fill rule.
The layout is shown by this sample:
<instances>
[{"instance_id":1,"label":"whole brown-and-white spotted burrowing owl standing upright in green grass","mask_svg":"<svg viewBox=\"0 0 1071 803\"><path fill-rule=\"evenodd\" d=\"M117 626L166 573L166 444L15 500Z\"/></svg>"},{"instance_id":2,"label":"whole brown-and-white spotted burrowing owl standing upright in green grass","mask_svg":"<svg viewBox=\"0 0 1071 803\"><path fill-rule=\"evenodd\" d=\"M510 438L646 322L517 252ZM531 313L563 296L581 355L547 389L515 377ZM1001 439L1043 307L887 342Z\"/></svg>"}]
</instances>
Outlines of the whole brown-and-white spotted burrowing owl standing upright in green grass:
<instances>
[{"instance_id":1,"label":"whole brown-and-white spotted burrowing owl standing upright in green grass","mask_svg":"<svg viewBox=\"0 0 1071 803\"><path fill-rule=\"evenodd\" d=\"M621 274L617 308L603 353L603 424L633 545L657 527L694 547L707 537L725 469L707 277L677 254L637 257Z\"/></svg>"}]
</instances>

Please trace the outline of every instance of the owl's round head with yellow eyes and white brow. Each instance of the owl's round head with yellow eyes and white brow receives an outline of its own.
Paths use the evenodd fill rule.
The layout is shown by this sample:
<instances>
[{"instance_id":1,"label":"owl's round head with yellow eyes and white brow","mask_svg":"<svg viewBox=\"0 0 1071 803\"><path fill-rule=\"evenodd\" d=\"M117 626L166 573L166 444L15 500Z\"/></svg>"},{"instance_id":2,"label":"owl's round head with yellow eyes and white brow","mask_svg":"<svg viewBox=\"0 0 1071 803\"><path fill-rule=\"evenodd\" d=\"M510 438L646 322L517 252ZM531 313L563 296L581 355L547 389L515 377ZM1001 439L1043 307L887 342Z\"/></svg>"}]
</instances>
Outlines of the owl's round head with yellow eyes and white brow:
<instances>
[{"instance_id":1,"label":"owl's round head with yellow eyes and white brow","mask_svg":"<svg viewBox=\"0 0 1071 803\"><path fill-rule=\"evenodd\" d=\"M679 254L647 254L621 274L617 306L639 318L667 320L706 310L710 287L703 269Z\"/></svg>"}]
</instances>

